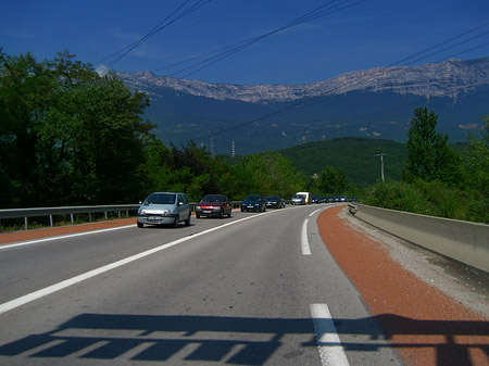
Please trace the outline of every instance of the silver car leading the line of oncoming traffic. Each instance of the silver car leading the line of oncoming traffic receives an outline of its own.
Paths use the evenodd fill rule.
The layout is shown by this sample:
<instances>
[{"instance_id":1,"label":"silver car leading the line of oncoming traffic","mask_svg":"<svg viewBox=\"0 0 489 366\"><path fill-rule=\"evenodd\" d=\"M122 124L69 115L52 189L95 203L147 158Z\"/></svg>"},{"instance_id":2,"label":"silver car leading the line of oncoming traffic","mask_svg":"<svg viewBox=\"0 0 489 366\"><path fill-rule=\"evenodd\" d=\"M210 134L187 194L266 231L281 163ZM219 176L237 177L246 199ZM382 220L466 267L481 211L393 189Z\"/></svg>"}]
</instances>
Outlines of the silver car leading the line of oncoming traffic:
<instances>
[{"instance_id":1,"label":"silver car leading the line of oncoming traffic","mask_svg":"<svg viewBox=\"0 0 489 366\"><path fill-rule=\"evenodd\" d=\"M185 193L151 193L138 210L138 227L146 225L172 225L178 227L180 222L190 225L190 204Z\"/></svg>"}]
</instances>

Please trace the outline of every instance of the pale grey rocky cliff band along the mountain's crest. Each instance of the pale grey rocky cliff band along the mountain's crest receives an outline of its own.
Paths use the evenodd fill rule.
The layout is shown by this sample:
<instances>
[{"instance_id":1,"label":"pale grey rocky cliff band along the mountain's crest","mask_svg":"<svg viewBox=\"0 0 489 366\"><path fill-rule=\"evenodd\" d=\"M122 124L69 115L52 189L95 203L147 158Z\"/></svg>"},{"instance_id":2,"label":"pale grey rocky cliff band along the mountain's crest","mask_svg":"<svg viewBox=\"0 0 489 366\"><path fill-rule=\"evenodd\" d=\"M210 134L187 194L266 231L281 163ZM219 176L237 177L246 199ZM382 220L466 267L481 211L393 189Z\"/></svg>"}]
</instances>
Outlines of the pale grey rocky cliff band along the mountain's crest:
<instances>
[{"instance_id":1,"label":"pale grey rocky cliff band along the mountain's crest","mask_svg":"<svg viewBox=\"0 0 489 366\"><path fill-rule=\"evenodd\" d=\"M156 76L150 72L120 73L121 79L135 90L150 97L159 88L174 89L215 100L237 100L268 104L299 99L342 94L350 91L393 91L425 98L450 97L489 85L489 58L463 61L449 59L422 66L376 67L341 74L308 85L230 85Z\"/></svg>"}]
</instances>

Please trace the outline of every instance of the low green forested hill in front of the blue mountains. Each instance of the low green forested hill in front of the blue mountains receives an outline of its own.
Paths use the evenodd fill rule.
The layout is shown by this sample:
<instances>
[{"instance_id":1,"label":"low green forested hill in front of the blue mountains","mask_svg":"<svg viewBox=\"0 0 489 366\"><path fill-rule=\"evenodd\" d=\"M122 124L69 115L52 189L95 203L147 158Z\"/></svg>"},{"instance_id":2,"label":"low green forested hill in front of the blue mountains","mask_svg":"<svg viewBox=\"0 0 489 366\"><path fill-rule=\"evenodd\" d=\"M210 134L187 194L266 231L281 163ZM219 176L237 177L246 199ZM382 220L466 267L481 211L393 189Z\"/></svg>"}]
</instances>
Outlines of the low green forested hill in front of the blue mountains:
<instances>
[{"instance_id":1,"label":"low green forested hill in front of the blue mountains","mask_svg":"<svg viewBox=\"0 0 489 366\"><path fill-rule=\"evenodd\" d=\"M408 151L404 143L373 138L347 137L310 142L280 151L292 165L310 176L328 165L342 168L351 182L367 187L380 180L380 156L386 179L399 180Z\"/></svg>"}]
</instances>

